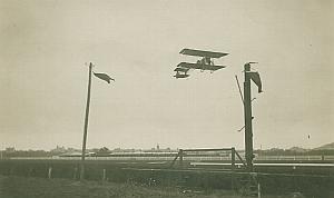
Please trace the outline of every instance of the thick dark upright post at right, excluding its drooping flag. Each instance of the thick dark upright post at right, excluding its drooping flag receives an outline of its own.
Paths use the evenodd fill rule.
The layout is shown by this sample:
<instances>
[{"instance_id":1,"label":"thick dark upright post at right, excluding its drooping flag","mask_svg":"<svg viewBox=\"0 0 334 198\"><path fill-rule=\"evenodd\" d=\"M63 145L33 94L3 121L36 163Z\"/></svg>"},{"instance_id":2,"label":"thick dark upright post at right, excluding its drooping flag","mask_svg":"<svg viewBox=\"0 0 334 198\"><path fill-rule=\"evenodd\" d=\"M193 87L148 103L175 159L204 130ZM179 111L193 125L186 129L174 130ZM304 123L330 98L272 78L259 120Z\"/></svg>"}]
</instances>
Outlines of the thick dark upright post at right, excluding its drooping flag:
<instances>
[{"instance_id":1,"label":"thick dark upright post at right, excluding its drooping flag","mask_svg":"<svg viewBox=\"0 0 334 198\"><path fill-rule=\"evenodd\" d=\"M250 63L244 66L244 116L245 116L245 155L247 170L253 171L253 127L252 127L252 100L250 100Z\"/></svg>"}]
</instances>

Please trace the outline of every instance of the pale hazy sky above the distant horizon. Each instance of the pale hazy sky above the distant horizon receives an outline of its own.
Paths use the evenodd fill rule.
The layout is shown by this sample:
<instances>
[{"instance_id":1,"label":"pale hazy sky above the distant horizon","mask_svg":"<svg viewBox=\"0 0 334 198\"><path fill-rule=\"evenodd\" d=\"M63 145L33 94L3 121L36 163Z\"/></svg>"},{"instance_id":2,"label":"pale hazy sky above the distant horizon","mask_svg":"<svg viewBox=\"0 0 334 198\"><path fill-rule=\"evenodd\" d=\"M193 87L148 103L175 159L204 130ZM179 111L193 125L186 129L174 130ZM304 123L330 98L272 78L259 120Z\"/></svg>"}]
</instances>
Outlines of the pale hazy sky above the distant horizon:
<instances>
[{"instance_id":1,"label":"pale hazy sky above the distant horizon","mask_svg":"<svg viewBox=\"0 0 334 198\"><path fill-rule=\"evenodd\" d=\"M0 149L244 148L235 75L257 61L254 148L334 141L330 0L0 0ZM214 73L173 77L184 48L227 52ZM243 83L242 83L243 85ZM310 138L308 138L310 136Z\"/></svg>"}]
</instances>

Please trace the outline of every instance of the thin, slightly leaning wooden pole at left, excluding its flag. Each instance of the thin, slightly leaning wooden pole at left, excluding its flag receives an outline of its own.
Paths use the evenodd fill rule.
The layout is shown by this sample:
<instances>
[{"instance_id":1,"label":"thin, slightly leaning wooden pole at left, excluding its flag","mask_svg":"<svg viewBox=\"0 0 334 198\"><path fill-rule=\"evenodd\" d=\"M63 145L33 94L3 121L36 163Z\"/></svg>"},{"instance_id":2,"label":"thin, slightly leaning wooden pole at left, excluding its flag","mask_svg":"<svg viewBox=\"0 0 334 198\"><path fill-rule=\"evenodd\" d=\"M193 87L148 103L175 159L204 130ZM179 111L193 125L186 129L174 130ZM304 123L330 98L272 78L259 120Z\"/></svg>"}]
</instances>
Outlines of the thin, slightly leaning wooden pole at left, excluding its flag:
<instances>
[{"instance_id":1,"label":"thin, slightly leaning wooden pole at left, excluding its flag","mask_svg":"<svg viewBox=\"0 0 334 198\"><path fill-rule=\"evenodd\" d=\"M87 141L89 103L90 103L91 68L92 68L92 63L90 62L89 63L89 75L88 75L88 91L87 91L87 103L86 103L86 113L85 113L84 139L82 139L80 180L85 179L85 155L86 155L86 141Z\"/></svg>"}]
</instances>

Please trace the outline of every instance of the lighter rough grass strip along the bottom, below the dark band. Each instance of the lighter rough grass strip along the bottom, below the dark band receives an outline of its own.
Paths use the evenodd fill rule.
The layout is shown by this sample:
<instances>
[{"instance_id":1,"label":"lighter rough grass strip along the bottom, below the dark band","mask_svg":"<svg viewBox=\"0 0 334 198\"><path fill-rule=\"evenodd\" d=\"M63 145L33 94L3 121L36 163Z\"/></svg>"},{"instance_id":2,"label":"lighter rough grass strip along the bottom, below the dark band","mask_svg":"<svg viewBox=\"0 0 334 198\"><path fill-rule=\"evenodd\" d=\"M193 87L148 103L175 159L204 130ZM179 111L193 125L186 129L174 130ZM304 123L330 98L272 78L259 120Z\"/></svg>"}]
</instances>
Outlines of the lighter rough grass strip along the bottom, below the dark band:
<instances>
[{"instance_id":1,"label":"lighter rough grass strip along the bottom, below the dark band","mask_svg":"<svg viewBox=\"0 0 334 198\"><path fill-rule=\"evenodd\" d=\"M233 191L143 187L134 184L0 176L1 198L239 198ZM286 196L263 196L263 198ZM245 198L245 197L243 197Z\"/></svg>"}]
</instances>

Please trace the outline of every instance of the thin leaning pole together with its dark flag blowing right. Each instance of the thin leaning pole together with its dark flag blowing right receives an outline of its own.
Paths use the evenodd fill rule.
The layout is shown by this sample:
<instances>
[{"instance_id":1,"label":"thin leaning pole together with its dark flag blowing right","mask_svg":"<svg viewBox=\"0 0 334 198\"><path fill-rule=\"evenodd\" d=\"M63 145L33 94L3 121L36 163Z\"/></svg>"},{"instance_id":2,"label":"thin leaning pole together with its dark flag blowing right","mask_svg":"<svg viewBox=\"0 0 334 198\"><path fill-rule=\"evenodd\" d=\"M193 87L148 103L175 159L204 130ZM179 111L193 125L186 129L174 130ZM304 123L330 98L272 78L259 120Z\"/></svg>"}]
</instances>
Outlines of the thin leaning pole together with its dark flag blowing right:
<instances>
[{"instance_id":1,"label":"thin leaning pole together with its dark flag blowing right","mask_svg":"<svg viewBox=\"0 0 334 198\"><path fill-rule=\"evenodd\" d=\"M87 142L87 129L88 129L88 117L89 117L89 105L90 105L90 88L91 88L91 71L92 63L89 63L89 71L88 71L88 91L87 91L87 103L86 103L86 113L85 113L85 126L84 126L84 140L82 140L82 152L81 152L81 167L80 167L80 180L85 179L85 157L86 157L86 142ZM95 73L94 75L110 83L110 80L114 80L106 73Z\"/></svg>"}]
</instances>

